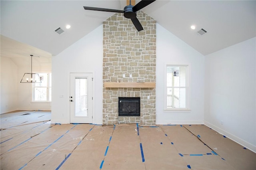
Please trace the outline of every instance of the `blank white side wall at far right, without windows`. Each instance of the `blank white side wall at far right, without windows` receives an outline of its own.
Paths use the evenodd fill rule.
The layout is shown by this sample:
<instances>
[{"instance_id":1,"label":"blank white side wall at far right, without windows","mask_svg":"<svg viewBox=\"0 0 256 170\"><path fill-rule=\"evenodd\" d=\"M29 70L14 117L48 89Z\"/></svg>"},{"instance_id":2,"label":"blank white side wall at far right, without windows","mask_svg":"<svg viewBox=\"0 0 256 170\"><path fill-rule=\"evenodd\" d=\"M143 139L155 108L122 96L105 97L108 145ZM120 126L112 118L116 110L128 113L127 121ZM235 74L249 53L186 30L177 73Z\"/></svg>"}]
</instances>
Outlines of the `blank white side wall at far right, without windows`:
<instances>
[{"instance_id":1,"label":"blank white side wall at far right, without windows","mask_svg":"<svg viewBox=\"0 0 256 170\"><path fill-rule=\"evenodd\" d=\"M205 124L254 152L255 42L252 38L205 56Z\"/></svg>"}]
</instances>

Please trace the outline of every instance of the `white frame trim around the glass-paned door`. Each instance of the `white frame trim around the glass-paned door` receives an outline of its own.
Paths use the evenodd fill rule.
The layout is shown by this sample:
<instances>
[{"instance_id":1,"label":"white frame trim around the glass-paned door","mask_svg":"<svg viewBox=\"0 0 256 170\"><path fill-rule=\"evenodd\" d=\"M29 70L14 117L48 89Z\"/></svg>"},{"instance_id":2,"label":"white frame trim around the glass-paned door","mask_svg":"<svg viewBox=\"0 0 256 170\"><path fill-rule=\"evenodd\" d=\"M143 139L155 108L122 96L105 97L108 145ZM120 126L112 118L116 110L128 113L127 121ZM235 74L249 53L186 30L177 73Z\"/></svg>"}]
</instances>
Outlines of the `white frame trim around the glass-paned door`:
<instances>
[{"instance_id":1,"label":"white frame trim around the glass-paned door","mask_svg":"<svg viewBox=\"0 0 256 170\"><path fill-rule=\"evenodd\" d=\"M92 74L92 124L94 124L95 123L95 96L94 96L94 94L95 94L95 85L94 85L94 72L93 71L88 71L88 72L70 72L69 73L69 96L71 95L70 94L70 83L71 83L71 74L72 73L85 73L85 74L88 74L88 73L91 73ZM70 100L70 98L68 98L69 100ZM69 102L69 123L71 122L71 119L70 119L70 117L71 117L71 108L70 108L70 102Z\"/></svg>"}]
</instances>

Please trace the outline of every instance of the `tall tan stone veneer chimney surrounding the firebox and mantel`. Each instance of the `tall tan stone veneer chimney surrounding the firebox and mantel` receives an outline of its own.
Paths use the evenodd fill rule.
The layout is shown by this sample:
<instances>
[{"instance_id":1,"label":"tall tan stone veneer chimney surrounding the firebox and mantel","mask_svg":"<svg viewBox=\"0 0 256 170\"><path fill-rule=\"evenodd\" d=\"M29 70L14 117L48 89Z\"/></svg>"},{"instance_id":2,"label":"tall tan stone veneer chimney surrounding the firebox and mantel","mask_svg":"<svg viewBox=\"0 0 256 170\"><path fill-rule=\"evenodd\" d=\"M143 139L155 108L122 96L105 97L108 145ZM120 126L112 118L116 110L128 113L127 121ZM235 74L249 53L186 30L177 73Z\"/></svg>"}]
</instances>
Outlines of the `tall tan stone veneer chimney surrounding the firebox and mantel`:
<instances>
[{"instance_id":1,"label":"tall tan stone veneer chimney surrounding the firebox and mantel","mask_svg":"<svg viewBox=\"0 0 256 170\"><path fill-rule=\"evenodd\" d=\"M156 82L156 21L142 11L137 12L137 18L144 28L140 32L122 13L103 22L103 84ZM118 117L118 97L140 97L140 116ZM103 124L118 123L155 125L156 89L103 85Z\"/></svg>"}]
</instances>

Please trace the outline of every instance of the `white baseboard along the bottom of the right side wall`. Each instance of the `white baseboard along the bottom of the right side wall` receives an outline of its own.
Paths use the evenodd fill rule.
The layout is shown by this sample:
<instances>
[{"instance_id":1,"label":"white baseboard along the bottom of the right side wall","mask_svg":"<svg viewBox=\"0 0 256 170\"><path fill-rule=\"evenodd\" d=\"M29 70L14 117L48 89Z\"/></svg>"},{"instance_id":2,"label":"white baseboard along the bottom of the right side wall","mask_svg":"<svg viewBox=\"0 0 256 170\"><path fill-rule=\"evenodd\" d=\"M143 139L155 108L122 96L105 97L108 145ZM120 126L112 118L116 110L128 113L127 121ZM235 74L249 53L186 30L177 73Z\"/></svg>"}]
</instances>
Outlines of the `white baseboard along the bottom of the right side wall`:
<instances>
[{"instance_id":1,"label":"white baseboard along the bottom of the right side wall","mask_svg":"<svg viewBox=\"0 0 256 170\"><path fill-rule=\"evenodd\" d=\"M218 133L225 135L226 137L230 138L234 142L246 147L247 149L251 150L252 152L256 153L256 146L253 144L250 144L246 142L245 140L242 140L241 138L234 136L233 134L230 134L229 132L226 132L225 130L222 130L221 128L216 127L215 125L212 125L211 123L204 121L204 125L216 130Z\"/></svg>"}]
</instances>

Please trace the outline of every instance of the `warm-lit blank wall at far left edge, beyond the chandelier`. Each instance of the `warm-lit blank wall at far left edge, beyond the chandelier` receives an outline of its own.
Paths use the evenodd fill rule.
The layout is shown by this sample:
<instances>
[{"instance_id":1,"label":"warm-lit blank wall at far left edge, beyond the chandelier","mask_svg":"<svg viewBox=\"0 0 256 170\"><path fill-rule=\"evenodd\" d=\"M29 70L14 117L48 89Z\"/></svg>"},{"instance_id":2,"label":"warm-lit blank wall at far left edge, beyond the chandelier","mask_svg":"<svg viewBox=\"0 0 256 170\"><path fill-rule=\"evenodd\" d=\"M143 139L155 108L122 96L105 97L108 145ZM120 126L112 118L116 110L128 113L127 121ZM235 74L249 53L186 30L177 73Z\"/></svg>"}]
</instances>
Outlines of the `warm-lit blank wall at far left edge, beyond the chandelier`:
<instances>
[{"instance_id":1,"label":"warm-lit blank wall at far left edge, beyond the chandelier","mask_svg":"<svg viewBox=\"0 0 256 170\"><path fill-rule=\"evenodd\" d=\"M18 67L11 59L1 57L1 110L14 111L18 107Z\"/></svg>"}]
</instances>

